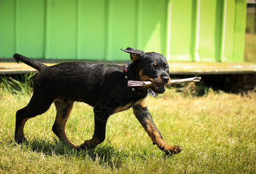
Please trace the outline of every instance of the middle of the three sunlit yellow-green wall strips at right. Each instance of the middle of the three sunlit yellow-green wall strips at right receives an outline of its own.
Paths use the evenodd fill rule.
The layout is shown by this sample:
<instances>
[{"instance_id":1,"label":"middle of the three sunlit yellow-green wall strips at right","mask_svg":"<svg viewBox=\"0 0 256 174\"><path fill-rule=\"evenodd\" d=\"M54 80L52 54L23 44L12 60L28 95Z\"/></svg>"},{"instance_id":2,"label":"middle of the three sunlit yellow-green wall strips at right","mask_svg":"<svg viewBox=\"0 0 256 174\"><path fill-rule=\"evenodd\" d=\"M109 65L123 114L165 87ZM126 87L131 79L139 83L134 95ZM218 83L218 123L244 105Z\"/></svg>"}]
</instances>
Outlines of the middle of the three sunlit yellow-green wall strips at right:
<instances>
[{"instance_id":1,"label":"middle of the three sunlit yellow-green wall strips at right","mask_svg":"<svg viewBox=\"0 0 256 174\"><path fill-rule=\"evenodd\" d=\"M198 1L195 61L218 61L222 3L218 0Z\"/></svg>"}]
</instances>

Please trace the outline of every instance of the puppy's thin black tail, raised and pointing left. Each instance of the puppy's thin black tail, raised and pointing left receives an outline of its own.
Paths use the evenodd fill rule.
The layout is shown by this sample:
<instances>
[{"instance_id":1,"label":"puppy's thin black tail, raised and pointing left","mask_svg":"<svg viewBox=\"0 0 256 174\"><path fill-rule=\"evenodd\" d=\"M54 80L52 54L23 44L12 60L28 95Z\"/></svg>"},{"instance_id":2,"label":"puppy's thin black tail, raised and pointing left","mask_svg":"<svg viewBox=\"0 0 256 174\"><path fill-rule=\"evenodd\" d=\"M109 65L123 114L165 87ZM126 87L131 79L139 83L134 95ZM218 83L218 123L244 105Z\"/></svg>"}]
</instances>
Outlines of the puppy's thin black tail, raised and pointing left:
<instances>
[{"instance_id":1,"label":"puppy's thin black tail, raised and pointing left","mask_svg":"<svg viewBox=\"0 0 256 174\"><path fill-rule=\"evenodd\" d=\"M13 58L19 63L19 61L22 61L23 63L26 63L28 66L33 67L37 69L38 71L43 70L44 68L47 68L48 66L45 66L45 64L40 63L39 61L29 59L25 56L14 54Z\"/></svg>"}]
</instances>

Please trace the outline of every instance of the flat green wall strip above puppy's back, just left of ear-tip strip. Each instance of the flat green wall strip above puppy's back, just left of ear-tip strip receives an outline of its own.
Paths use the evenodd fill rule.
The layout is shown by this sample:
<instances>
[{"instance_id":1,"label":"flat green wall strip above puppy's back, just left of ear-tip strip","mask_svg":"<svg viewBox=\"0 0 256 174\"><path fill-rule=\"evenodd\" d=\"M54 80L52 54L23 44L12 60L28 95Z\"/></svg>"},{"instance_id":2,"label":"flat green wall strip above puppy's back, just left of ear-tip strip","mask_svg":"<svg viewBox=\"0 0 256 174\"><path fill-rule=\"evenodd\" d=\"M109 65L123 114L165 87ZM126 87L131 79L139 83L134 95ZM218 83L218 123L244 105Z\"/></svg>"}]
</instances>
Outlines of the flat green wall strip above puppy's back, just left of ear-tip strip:
<instances>
[{"instance_id":1,"label":"flat green wall strip above puppy's back, just left of ear-tip strip","mask_svg":"<svg viewBox=\"0 0 256 174\"><path fill-rule=\"evenodd\" d=\"M77 59L103 60L106 49L106 2L78 1Z\"/></svg>"}]
</instances>

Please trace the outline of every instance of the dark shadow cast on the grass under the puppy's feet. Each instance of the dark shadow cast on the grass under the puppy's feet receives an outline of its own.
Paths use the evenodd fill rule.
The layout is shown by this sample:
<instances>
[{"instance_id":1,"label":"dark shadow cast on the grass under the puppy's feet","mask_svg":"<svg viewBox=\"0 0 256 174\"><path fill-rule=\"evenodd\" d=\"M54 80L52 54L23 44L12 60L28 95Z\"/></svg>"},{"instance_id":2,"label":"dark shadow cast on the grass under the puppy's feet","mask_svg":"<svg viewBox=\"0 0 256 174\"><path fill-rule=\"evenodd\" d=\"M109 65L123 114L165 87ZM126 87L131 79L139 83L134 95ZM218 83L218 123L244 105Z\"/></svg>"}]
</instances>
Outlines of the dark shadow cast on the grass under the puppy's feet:
<instances>
[{"instance_id":1,"label":"dark shadow cast on the grass under the puppy's feet","mask_svg":"<svg viewBox=\"0 0 256 174\"><path fill-rule=\"evenodd\" d=\"M30 142L24 142L22 144L16 144L12 141L10 144L15 144L15 146L20 147L21 150L27 151L28 153L29 151L33 151L49 157L61 155L64 158L72 158L78 161L89 160L111 169L118 169L125 161L129 160L142 160L146 162L152 158L172 158L171 155L165 155L164 153L159 155L145 149L140 151L136 148L124 150L111 146L111 144L100 144L96 148L88 150L76 150L58 139L32 139Z\"/></svg>"}]
</instances>

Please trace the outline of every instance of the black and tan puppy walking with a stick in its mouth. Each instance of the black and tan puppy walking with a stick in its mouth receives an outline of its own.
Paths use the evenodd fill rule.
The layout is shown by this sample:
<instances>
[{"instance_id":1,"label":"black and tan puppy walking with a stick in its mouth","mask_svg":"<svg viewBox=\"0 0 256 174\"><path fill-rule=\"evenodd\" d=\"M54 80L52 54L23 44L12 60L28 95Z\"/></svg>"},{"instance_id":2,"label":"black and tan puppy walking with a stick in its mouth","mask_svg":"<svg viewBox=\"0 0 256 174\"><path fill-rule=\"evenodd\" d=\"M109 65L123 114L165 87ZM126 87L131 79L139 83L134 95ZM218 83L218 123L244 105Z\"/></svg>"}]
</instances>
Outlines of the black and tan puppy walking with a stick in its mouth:
<instances>
[{"instance_id":1,"label":"black and tan puppy walking with a stick in its mouth","mask_svg":"<svg viewBox=\"0 0 256 174\"><path fill-rule=\"evenodd\" d=\"M179 153L181 147L169 146L156 128L148 111L146 97L148 90L164 92L164 85L170 84L169 66L163 55L142 50L121 49L130 54L132 63L128 66L92 64L85 62L60 63L48 67L36 60L15 54L19 63L36 68L39 74L34 79L33 96L29 104L16 113L15 140L26 141L23 128L29 118L45 113L54 102L57 109L52 131L59 139L75 148L95 147L104 141L108 117L114 113L133 108L139 120L160 150L166 154ZM128 80L152 81L152 86L128 87ZM85 102L93 106L94 134L80 146L73 144L65 133L65 124L74 102Z\"/></svg>"}]
</instances>

